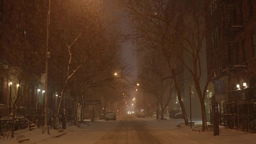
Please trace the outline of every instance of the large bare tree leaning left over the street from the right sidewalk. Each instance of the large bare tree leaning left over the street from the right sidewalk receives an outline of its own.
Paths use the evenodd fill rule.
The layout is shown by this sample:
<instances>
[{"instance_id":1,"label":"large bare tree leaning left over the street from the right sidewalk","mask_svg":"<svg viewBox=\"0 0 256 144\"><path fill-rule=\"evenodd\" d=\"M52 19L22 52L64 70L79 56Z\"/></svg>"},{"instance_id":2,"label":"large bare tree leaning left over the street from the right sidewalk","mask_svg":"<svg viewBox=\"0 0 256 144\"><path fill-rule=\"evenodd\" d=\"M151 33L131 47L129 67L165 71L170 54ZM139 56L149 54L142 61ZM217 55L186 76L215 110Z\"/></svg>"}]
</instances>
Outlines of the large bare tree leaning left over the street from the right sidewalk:
<instances>
[{"instance_id":1,"label":"large bare tree leaning left over the street from the right sidewalk","mask_svg":"<svg viewBox=\"0 0 256 144\"><path fill-rule=\"evenodd\" d=\"M153 49L162 54L168 62L173 78L178 100L188 125L188 119L182 95L180 92L178 74L180 66L176 56L182 55L182 51L176 49L176 45L182 41L180 37L180 24L182 23L181 9L183 2L180 0L119 0L120 7L127 14L129 32L126 35L137 46L137 51Z\"/></svg>"}]
</instances>

